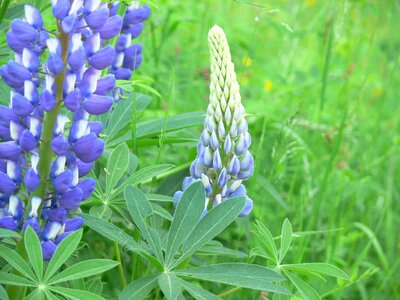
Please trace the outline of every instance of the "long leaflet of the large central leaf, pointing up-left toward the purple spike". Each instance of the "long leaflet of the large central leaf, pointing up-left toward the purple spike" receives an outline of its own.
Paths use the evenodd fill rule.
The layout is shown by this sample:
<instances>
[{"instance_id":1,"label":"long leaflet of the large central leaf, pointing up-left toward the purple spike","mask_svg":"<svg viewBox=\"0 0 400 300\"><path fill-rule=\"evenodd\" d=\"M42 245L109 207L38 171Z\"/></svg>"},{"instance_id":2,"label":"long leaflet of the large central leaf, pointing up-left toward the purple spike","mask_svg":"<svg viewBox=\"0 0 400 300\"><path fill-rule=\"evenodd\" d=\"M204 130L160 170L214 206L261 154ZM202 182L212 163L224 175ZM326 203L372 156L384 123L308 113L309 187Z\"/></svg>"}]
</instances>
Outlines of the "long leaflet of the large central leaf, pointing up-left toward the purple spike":
<instances>
[{"instance_id":1,"label":"long leaflet of the large central leaf, pointing up-left toward the purple spike","mask_svg":"<svg viewBox=\"0 0 400 300\"><path fill-rule=\"evenodd\" d=\"M162 264L152 257L146 250L144 250L139 244L128 234L126 234L122 229L117 226L103 220L101 218L91 216L88 214L80 214L85 220L85 224L89 226L94 231L98 232L102 236L116 242L122 247L133 251L144 258L148 259L154 266L156 266L159 270L162 270Z\"/></svg>"}]
</instances>

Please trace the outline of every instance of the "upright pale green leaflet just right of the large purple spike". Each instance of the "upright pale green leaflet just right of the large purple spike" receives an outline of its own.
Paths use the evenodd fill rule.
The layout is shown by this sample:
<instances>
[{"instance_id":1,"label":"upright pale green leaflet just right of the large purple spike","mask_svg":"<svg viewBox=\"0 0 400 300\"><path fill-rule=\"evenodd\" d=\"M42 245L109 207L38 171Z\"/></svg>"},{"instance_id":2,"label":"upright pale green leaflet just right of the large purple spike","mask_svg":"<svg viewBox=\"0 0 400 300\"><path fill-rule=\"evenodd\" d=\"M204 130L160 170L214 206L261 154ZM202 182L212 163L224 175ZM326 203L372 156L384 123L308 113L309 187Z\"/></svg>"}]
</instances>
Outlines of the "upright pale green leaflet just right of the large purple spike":
<instances>
[{"instance_id":1,"label":"upright pale green leaflet just right of the large purple spike","mask_svg":"<svg viewBox=\"0 0 400 300\"><path fill-rule=\"evenodd\" d=\"M107 162L106 195L110 195L128 166L129 148L123 143L113 150Z\"/></svg>"}]
</instances>

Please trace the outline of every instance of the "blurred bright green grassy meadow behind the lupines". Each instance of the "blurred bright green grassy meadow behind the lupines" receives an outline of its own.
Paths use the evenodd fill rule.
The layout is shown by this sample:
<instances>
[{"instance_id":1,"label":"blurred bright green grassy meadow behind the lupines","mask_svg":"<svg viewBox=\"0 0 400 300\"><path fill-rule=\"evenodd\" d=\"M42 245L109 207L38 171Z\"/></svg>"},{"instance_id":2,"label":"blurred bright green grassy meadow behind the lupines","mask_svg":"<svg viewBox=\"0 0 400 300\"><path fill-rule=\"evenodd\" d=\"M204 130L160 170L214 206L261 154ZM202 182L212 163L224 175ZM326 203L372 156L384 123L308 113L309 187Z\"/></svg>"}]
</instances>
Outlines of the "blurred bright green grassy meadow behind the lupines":
<instances>
[{"instance_id":1,"label":"blurred bright green grassy meadow behind the lupines","mask_svg":"<svg viewBox=\"0 0 400 300\"><path fill-rule=\"evenodd\" d=\"M205 111L209 28L218 24L230 42L256 170L246 183L253 213L229 244L248 249L255 219L278 235L287 217L296 232L318 231L295 240L291 262L330 262L354 280L327 297L400 297L400 2L156 5L141 37L140 73L155 80L161 115ZM179 165L194 149L161 146L148 157ZM320 280L312 285L332 291Z\"/></svg>"}]
</instances>

